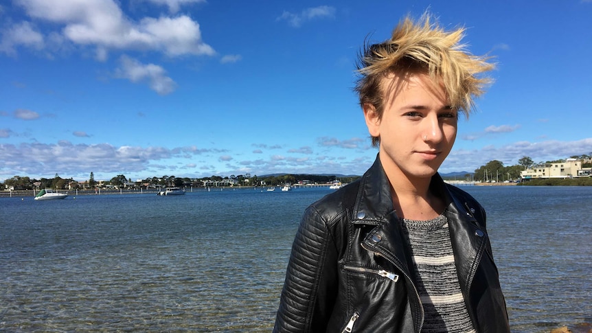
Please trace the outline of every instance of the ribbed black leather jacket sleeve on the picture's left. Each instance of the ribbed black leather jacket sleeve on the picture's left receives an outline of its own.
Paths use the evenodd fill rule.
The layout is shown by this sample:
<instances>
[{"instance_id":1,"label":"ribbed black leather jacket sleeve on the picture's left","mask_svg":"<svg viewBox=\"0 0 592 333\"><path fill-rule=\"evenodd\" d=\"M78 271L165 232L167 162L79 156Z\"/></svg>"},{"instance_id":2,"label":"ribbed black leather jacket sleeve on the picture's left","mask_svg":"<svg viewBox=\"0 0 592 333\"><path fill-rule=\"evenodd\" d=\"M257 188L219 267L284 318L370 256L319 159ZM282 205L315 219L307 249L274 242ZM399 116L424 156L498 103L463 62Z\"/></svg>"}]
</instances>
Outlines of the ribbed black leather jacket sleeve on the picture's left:
<instances>
[{"instance_id":1,"label":"ribbed black leather jacket sleeve on the picture's left","mask_svg":"<svg viewBox=\"0 0 592 333\"><path fill-rule=\"evenodd\" d=\"M273 332L325 332L337 289L336 252L326 221L308 207L292 246Z\"/></svg>"}]
</instances>

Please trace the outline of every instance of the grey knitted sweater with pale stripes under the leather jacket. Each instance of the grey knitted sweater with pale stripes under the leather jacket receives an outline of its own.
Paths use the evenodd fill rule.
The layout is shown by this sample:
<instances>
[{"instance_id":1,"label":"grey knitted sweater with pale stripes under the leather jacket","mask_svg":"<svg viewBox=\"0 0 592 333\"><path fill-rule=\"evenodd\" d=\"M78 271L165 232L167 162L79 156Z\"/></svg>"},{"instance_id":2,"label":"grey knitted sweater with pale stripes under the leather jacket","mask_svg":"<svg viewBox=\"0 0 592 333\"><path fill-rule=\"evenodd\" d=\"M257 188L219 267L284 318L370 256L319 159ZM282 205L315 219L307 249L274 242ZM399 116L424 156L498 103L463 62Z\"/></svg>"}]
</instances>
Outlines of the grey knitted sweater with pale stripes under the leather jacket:
<instances>
[{"instance_id":1,"label":"grey knitted sweater with pale stripes under the leather jacket","mask_svg":"<svg viewBox=\"0 0 592 333\"><path fill-rule=\"evenodd\" d=\"M474 333L460 290L444 214L433 220L402 219L425 320L422 332Z\"/></svg>"}]
</instances>

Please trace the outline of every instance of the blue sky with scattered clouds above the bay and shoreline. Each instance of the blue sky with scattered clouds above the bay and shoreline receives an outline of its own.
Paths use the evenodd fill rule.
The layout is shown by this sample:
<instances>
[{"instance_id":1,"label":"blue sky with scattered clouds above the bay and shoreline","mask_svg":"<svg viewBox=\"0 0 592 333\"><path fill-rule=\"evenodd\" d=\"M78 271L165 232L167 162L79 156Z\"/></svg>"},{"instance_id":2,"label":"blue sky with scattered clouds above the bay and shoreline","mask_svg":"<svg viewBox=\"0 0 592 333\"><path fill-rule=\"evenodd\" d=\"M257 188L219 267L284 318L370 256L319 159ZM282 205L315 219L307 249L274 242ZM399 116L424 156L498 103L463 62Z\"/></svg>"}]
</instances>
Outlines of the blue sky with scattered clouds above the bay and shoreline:
<instances>
[{"instance_id":1,"label":"blue sky with scattered clouds above the bay and shoreline","mask_svg":"<svg viewBox=\"0 0 592 333\"><path fill-rule=\"evenodd\" d=\"M591 0L9 0L0 181L362 174L356 54L427 8L498 64L441 172L592 152Z\"/></svg>"}]
</instances>

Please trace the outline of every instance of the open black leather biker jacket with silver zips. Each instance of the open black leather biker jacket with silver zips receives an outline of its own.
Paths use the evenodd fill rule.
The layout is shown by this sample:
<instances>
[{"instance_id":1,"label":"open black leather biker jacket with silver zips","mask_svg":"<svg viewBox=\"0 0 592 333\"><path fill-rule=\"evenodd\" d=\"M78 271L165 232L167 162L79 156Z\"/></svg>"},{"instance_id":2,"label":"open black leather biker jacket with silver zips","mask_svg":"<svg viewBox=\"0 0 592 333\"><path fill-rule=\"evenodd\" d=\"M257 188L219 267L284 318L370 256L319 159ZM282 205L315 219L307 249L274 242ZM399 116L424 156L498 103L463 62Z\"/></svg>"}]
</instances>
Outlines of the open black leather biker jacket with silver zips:
<instances>
[{"instance_id":1,"label":"open black leather biker jacket with silver zips","mask_svg":"<svg viewBox=\"0 0 592 333\"><path fill-rule=\"evenodd\" d=\"M462 294L477 332L510 332L477 201L435 174ZM363 177L306 209L273 332L420 332L424 310L380 159Z\"/></svg>"}]
</instances>

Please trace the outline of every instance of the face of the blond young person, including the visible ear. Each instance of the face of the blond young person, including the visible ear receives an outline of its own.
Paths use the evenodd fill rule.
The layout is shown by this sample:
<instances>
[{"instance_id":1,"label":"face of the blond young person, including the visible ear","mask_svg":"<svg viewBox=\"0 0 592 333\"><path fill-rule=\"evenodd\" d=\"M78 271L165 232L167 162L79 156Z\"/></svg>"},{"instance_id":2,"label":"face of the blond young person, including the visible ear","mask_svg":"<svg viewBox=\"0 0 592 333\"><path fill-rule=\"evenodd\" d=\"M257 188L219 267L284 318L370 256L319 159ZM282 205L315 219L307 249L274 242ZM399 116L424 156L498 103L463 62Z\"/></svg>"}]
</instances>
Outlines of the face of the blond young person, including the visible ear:
<instances>
[{"instance_id":1,"label":"face of the blond young person, including the visible ear","mask_svg":"<svg viewBox=\"0 0 592 333\"><path fill-rule=\"evenodd\" d=\"M457 133L457 110L427 74L387 76L381 83L384 112L364 106L370 135L380 137L380 161L390 176L431 177L448 156Z\"/></svg>"}]
</instances>

